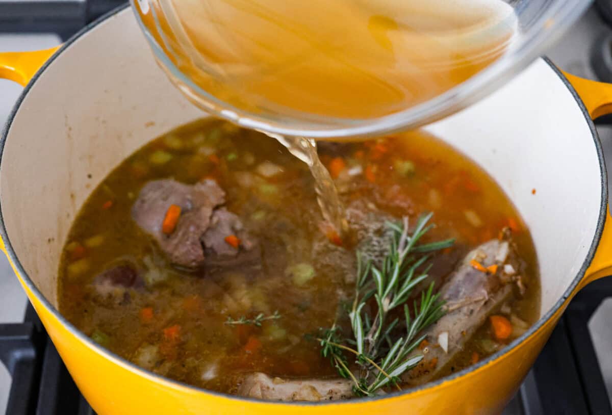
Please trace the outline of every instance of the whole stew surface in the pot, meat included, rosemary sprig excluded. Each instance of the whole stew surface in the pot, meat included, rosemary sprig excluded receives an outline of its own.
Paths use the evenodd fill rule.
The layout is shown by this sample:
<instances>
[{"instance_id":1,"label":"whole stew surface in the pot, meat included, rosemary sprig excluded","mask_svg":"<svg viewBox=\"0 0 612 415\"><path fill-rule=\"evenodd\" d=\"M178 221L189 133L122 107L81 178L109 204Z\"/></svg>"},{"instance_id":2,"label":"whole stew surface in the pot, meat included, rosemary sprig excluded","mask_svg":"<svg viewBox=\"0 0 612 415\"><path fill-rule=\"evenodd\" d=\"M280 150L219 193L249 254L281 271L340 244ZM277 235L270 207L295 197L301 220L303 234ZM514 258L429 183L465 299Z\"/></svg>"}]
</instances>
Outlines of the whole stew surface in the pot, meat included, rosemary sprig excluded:
<instances>
[{"instance_id":1,"label":"whole stew surface in the pot, meat included, rosemary sprig excluded","mask_svg":"<svg viewBox=\"0 0 612 415\"><path fill-rule=\"evenodd\" d=\"M468 367L537 320L529 231L465 155L424 132L321 143L319 155L346 208L350 231L341 240L322 220L308 167L272 138L199 121L146 144L76 217L59 267L61 313L95 342L160 375L230 394L318 400L326 392L305 396L277 386L338 378L315 339L334 323L351 337L345 308L356 287L356 251L380 266L391 249L386 221L408 218L413 235L419 217L433 212L436 226L423 244L455 241L422 257L431 269L425 262L418 268L428 276L405 303L422 304L433 281L446 315L414 337L421 341L411 356L425 357L398 387ZM420 258L418 250L411 255ZM373 315L373 298L364 304ZM406 330L402 321L390 337ZM345 357L359 373L354 357Z\"/></svg>"}]
</instances>

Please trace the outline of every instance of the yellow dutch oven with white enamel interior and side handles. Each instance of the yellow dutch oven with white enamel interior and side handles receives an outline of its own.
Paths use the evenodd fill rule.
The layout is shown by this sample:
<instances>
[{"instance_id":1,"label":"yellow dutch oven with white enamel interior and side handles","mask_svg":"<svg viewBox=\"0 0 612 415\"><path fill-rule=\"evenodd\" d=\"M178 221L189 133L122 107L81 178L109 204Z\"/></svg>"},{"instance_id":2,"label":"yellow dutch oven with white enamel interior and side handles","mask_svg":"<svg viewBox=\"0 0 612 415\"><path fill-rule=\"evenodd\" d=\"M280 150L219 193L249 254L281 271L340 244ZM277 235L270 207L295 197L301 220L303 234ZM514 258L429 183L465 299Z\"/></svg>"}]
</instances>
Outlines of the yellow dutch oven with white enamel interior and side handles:
<instances>
[{"instance_id":1,"label":"yellow dutch oven with white enamel interior and side handles","mask_svg":"<svg viewBox=\"0 0 612 415\"><path fill-rule=\"evenodd\" d=\"M100 415L499 414L570 299L612 274L605 163L591 121L612 112L612 86L539 59L487 99L426 127L493 176L531 230L542 312L528 332L466 370L385 397L275 403L177 383L101 348L66 321L57 310L57 270L70 224L95 185L148 140L203 114L155 65L125 8L59 50L0 54L0 77L26 85L0 142L2 249Z\"/></svg>"}]
</instances>

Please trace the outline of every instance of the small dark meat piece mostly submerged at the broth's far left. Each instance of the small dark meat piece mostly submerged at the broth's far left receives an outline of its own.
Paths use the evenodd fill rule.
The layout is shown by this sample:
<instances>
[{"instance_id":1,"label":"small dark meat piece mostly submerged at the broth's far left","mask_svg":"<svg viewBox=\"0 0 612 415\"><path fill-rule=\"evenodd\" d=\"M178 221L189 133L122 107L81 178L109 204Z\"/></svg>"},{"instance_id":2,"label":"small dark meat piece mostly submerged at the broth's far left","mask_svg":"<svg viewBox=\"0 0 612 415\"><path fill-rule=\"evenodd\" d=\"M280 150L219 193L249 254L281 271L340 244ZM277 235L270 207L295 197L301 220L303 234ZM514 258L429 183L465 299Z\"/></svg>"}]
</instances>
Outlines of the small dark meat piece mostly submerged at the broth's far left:
<instances>
[{"instance_id":1,"label":"small dark meat piece mostly submerged at the broth's far left","mask_svg":"<svg viewBox=\"0 0 612 415\"><path fill-rule=\"evenodd\" d=\"M143 288L144 281L131 265L119 265L97 275L94 279L95 292L104 299L114 301L129 301L130 289Z\"/></svg>"}]
</instances>

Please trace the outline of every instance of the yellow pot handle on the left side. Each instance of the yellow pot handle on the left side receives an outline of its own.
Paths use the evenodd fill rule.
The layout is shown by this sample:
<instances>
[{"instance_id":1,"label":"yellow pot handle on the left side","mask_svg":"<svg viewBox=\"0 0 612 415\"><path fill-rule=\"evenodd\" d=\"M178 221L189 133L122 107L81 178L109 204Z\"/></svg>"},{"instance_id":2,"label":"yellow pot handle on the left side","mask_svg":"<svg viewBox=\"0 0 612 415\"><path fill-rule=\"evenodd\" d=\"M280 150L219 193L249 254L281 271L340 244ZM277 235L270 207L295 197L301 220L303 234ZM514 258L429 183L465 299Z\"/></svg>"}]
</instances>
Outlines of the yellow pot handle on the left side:
<instances>
[{"instance_id":1,"label":"yellow pot handle on the left side","mask_svg":"<svg viewBox=\"0 0 612 415\"><path fill-rule=\"evenodd\" d=\"M40 67L58 49L59 46L29 52L1 52L0 78L26 86Z\"/></svg>"}]
</instances>

